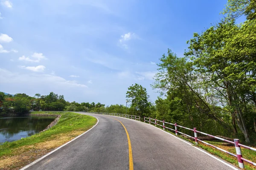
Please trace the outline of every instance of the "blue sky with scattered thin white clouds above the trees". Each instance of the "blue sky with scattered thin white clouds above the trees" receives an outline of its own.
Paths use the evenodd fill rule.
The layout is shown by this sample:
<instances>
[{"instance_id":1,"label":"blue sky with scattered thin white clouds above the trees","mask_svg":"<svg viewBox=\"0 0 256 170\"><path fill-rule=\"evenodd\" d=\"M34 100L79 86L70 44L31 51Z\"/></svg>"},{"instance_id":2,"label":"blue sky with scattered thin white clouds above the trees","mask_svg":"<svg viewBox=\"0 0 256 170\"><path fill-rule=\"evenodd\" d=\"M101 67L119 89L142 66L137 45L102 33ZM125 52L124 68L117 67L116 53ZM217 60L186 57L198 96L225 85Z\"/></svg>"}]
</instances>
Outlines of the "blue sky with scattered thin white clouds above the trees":
<instances>
[{"instance_id":1,"label":"blue sky with scattered thin white clouds above the trees","mask_svg":"<svg viewBox=\"0 0 256 170\"><path fill-rule=\"evenodd\" d=\"M125 104L151 89L158 59L222 17L227 0L0 0L0 91L53 91L72 102Z\"/></svg>"}]
</instances>

